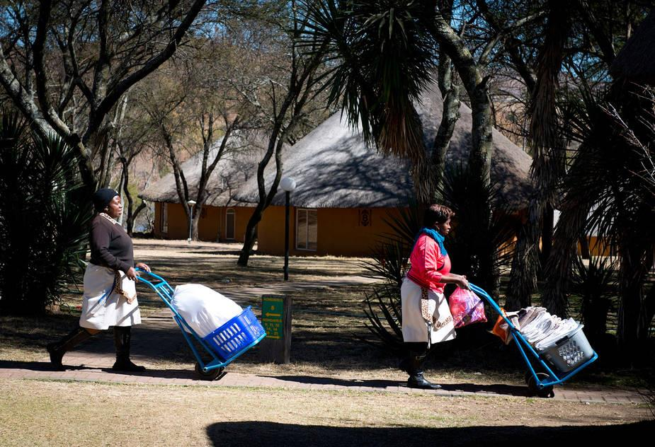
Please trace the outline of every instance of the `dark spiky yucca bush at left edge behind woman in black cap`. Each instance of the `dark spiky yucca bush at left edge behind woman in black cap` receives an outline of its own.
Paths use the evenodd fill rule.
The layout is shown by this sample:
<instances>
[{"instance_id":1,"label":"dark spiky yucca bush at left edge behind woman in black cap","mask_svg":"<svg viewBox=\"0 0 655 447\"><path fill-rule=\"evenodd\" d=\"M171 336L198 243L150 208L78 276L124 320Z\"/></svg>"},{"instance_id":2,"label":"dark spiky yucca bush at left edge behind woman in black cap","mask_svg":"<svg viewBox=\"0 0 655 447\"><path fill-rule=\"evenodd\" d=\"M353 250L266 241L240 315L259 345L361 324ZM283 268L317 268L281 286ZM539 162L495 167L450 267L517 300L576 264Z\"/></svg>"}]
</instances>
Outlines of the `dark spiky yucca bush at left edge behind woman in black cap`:
<instances>
[{"instance_id":1,"label":"dark spiky yucca bush at left edge behind woman in black cap","mask_svg":"<svg viewBox=\"0 0 655 447\"><path fill-rule=\"evenodd\" d=\"M45 313L75 281L89 201L74 149L32 134L16 115L0 128L0 312Z\"/></svg>"}]
</instances>

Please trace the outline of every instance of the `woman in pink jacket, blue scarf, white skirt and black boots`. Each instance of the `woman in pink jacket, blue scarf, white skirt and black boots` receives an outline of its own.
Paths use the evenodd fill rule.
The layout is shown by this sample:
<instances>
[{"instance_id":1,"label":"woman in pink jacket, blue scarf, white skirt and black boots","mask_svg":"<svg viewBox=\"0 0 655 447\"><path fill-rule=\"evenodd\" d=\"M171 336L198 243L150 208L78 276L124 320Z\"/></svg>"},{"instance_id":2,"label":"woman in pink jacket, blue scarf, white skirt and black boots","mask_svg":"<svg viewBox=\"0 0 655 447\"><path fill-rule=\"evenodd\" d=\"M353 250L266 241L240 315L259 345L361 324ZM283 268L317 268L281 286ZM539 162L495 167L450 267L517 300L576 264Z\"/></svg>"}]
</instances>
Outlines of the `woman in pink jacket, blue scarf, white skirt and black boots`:
<instances>
[{"instance_id":1,"label":"woman in pink jacket, blue scarf, white skirt and black boots","mask_svg":"<svg viewBox=\"0 0 655 447\"><path fill-rule=\"evenodd\" d=\"M424 228L411 250L411 268L401 286L402 335L409 356L401 361L400 368L409 374L409 388L441 388L423 377L423 361L432 344L455 338L443 288L446 283L469 288L465 276L450 273L450 257L443 245L454 215L452 209L443 205L433 204L426 209Z\"/></svg>"}]
</instances>

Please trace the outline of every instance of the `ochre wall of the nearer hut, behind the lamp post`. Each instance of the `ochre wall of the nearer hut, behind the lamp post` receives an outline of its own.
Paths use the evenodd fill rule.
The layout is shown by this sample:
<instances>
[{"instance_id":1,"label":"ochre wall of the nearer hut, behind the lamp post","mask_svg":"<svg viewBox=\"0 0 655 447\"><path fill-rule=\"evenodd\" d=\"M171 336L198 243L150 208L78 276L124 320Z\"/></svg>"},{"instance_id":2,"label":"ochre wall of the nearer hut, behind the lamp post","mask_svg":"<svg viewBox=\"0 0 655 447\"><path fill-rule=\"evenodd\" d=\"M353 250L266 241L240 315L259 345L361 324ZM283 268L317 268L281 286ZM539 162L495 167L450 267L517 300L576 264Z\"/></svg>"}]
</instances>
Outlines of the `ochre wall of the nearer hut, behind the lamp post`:
<instances>
[{"instance_id":1,"label":"ochre wall of the nearer hut, behind the lamp post","mask_svg":"<svg viewBox=\"0 0 655 447\"><path fill-rule=\"evenodd\" d=\"M370 256L382 233L391 228L383 221L395 209L319 208L317 209L317 250L297 250L296 212L290 209L290 255ZM363 225L362 213L370 213L368 225ZM268 207L258 226L258 252L284 255L284 207Z\"/></svg>"}]
</instances>

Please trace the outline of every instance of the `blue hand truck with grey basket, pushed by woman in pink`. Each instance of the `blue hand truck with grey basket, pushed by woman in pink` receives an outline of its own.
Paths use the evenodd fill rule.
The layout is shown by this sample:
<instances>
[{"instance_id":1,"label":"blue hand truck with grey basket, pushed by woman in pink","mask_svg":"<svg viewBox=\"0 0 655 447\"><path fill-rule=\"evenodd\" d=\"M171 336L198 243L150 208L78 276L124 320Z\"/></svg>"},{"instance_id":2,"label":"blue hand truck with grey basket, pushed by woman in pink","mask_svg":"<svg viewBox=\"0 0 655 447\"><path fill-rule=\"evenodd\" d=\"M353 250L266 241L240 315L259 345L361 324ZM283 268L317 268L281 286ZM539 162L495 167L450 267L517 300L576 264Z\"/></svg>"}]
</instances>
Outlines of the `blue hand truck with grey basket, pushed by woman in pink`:
<instances>
[{"instance_id":1,"label":"blue hand truck with grey basket, pushed by woman in pink","mask_svg":"<svg viewBox=\"0 0 655 447\"><path fill-rule=\"evenodd\" d=\"M525 373L525 383L533 395L553 397L554 385L568 381L569 378L575 376L598 359L598 354L589 346L581 327L573 334L537 352L486 291L471 283L469 283L469 286L475 294L484 298L507 323L518 351L523 356L525 364L528 365L528 372ZM537 372L537 369L540 372Z\"/></svg>"}]
</instances>

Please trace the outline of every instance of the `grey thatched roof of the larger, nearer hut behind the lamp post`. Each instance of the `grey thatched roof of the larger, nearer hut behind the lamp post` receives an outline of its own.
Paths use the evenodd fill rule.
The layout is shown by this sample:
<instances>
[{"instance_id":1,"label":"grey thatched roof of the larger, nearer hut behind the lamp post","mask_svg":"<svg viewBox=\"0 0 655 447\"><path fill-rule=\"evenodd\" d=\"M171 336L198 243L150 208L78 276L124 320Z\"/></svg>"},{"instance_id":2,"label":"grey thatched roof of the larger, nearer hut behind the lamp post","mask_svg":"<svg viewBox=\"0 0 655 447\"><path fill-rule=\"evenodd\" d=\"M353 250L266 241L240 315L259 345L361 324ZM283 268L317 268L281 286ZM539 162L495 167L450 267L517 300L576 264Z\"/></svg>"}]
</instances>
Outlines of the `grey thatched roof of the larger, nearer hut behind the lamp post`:
<instances>
[{"instance_id":1,"label":"grey thatched roof of the larger, nearer hut behind the lamp post","mask_svg":"<svg viewBox=\"0 0 655 447\"><path fill-rule=\"evenodd\" d=\"M426 90L417 107L426 144L431 146L441 120L443 101L436 85ZM448 149L447 163L466 162L471 146L471 110L460 107ZM491 180L501 186L501 196L508 207L527 206L530 193L528 170L531 158L494 129L494 153ZM397 158L380 156L367 147L360 129L353 131L341 120L341 114L329 117L312 132L288 149L284 175L296 180L293 204L308 208L395 207L413 197L409 166ZM270 185L273 176L266 177ZM251 178L236 193L237 199L256 202L257 180ZM278 192L274 205L284 204Z\"/></svg>"}]
</instances>

